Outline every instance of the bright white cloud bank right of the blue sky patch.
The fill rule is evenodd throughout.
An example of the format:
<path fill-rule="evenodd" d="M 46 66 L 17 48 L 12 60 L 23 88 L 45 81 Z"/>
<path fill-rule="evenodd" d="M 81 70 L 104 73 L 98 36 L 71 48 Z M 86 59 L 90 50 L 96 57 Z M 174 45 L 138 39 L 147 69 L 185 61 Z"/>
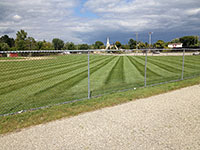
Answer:
<path fill-rule="evenodd" d="M 134 30 L 172 29 L 190 23 L 188 14 L 199 12 L 200 2 L 175 0 L 88 0 L 85 7 L 101 16 L 101 20 L 112 20 L 115 25 Z M 176 25 L 174 25 L 176 24 Z M 132 27 L 132 29 L 131 29 Z M 176 30 L 176 29 L 175 29 Z"/>

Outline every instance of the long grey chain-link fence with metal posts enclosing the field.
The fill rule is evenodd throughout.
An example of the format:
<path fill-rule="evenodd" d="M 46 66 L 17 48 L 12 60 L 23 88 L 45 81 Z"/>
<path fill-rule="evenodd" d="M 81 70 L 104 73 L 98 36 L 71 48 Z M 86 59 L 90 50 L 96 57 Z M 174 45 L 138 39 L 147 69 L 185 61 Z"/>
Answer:
<path fill-rule="evenodd" d="M 199 49 L 0 51 L 0 116 L 200 75 Z"/>

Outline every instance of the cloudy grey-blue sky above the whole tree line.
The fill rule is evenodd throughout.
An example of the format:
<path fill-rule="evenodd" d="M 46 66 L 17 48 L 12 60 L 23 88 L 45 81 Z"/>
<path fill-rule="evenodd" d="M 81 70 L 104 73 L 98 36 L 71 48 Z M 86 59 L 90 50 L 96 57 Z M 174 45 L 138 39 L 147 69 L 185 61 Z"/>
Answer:
<path fill-rule="evenodd" d="M 125 44 L 200 35 L 200 0 L 0 0 L 0 36 Z"/>

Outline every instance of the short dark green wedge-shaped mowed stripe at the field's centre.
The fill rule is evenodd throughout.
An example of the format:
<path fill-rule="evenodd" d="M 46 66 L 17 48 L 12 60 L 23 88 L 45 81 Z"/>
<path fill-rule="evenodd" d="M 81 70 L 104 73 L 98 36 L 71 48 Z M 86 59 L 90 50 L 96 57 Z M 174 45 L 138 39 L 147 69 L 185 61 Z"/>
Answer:
<path fill-rule="evenodd" d="M 106 78 L 105 85 L 125 82 L 124 57 L 120 56 Z"/>

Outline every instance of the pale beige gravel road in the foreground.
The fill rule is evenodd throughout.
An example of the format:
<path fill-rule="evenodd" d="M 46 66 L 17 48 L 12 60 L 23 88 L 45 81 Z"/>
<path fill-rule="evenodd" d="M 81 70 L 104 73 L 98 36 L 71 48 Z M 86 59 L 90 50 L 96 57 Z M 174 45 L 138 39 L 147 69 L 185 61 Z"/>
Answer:
<path fill-rule="evenodd" d="M 0 136 L 2 150 L 199 150 L 200 85 Z"/>

